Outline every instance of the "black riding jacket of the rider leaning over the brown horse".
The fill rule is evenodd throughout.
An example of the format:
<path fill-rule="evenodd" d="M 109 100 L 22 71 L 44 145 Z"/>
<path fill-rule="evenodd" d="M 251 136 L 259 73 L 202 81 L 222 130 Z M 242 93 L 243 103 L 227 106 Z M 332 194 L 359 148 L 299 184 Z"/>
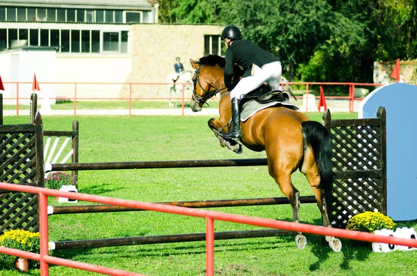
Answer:
<path fill-rule="evenodd" d="M 252 73 L 252 64 L 262 67 L 265 64 L 279 61 L 279 58 L 248 40 L 234 40 L 229 49 L 226 50 L 225 58 L 224 85 L 226 87 L 229 87 L 231 84 L 231 79 L 234 76 L 235 63 L 245 70 L 243 76 L 250 76 Z"/>

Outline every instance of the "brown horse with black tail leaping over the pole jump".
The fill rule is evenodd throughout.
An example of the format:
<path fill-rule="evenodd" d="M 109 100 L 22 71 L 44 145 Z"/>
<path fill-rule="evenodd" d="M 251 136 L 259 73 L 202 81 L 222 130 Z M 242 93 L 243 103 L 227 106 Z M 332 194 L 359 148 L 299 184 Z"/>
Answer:
<path fill-rule="evenodd" d="M 231 118 L 231 99 L 224 86 L 224 58 L 209 55 L 197 60 L 190 60 L 195 68 L 193 76 L 194 91 L 190 107 L 201 111 L 208 99 L 220 93 L 219 119 L 208 120 L 220 145 L 227 145 L 237 150 L 240 146 L 234 141 L 226 141 L 218 131 L 226 131 L 224 126 Z M 293 208 L 293 222 L 299 222 L 300 193 L 291 182 L 291 174 L 300 170 L 306 177 L 316 197 L 318 209 L 324 225 L 331 227 L 325 202 L 325 189 L 332 186 L 332 140 L 329 131 L 319 122 L 309 120 L 301 112 L 284 107 L 270 107 L 256 112 L 240 124 L 241 142 L 255 152 L 265 150 L 268 159 L 268 171 L 275 179 L 282 193 L 288 198 Z M 326 236 L 330 247 L 341 250 L 337 238 Z M 299 233 L 295 238 L 297 247 L 306 246 L 306 238 Z"/>

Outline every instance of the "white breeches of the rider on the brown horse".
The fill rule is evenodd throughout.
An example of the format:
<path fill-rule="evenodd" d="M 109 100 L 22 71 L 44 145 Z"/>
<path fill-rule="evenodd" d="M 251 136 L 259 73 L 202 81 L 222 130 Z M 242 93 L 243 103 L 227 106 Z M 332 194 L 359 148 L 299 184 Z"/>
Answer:
<path fill-rule="evenodd" d="M 268 86 L 272 90 L 279 90 L 281 74 L 282 68 L 279 61 L 265 64 L 261 68 L 254 65 L 254 74 L 242 78 L 236 87 L 231 90 L 230 97 L 238 97 L 238 99 L 240 99 L 242 95 L 252 92 L 265 82 L 268 83 Z"/>

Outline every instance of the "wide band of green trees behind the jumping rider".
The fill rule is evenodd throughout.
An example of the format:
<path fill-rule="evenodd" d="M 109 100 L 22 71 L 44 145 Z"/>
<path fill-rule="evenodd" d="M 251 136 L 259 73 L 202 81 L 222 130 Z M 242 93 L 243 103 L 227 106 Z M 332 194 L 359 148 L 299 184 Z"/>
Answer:
<path fill-rule="evenodd" d="M 288 81 L 372 83 L 375 60 L 417 58 L 414 0 L 160 3 L 163 22 L 242 27 L 245 38 L 281 58 Z"/>

